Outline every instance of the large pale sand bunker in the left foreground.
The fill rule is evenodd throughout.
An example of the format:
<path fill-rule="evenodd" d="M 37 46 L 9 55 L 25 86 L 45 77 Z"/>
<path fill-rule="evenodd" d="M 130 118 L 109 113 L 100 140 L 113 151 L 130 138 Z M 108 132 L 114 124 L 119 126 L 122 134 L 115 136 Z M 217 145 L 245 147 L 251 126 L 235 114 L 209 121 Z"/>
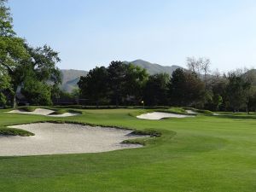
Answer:
<path fill-rule="evenodd" d="M 53 123 L 10 127 L 31 131 L 35 136 L 0 137 L 0 156 L 99 153 L 142 147 L 138 144 L 121 144 L 124 140 L 142 136 L 131 136 L 128 135 L 131 131 L 115 128 Z"/>

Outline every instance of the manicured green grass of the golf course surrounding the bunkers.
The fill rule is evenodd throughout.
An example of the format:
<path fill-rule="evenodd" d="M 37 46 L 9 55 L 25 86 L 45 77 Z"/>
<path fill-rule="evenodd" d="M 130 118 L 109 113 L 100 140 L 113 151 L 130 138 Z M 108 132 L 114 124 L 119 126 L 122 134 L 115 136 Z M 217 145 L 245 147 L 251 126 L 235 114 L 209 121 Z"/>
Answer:
<path fill-rule="evenodd" d="M 3 111 L 2 126 L 65 120 L 161 136 L 143 148 L 108 153 L 0 157 L 0 191 L 256 191 L 255 113 L 146 120 L 129 115 L 142 109 L 81 110 L 65 119 Z"/>

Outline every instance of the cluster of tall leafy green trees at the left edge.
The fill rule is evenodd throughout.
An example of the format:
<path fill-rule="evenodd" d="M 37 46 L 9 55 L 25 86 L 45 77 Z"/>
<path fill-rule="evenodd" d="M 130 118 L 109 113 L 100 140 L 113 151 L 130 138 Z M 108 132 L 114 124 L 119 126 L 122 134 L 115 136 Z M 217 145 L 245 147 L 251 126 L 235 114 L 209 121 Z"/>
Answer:
<path fill-rule="evenodd" d="M 33 48 L 16 35 L 6 0 L 0 0 L 0 106 L 15 108 L 20 89 L 34 105 L 50 105 L 59 93 L 58 53 L 49 46 Z"/>

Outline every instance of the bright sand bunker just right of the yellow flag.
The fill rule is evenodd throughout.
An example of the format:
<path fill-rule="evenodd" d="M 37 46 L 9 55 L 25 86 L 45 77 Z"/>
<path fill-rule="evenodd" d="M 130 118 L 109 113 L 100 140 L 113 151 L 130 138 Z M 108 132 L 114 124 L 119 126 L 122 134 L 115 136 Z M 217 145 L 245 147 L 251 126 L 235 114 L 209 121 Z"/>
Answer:
<path fill-rule="evenodd" d="M 176 113 L 163 113 L 163 112 L 144 113 L 137 116 L 138 119 L 152 119 L 152 120 L 158 120 L 163 118 L 187 118 L 187 117 L 194 117 L 194 116 L 185 115 L 185 114 L 176 114 Z"/>

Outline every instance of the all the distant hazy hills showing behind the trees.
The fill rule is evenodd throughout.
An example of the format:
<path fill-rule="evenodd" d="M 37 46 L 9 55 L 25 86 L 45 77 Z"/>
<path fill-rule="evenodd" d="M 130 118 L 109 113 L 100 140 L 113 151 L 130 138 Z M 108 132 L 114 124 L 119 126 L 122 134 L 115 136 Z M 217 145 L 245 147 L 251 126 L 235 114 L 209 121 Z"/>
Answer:
<path fill-rule="evenodd" d="M 132 63 L 135 66 L 139 66 L 145 68 L 149 74 L 156 73 L 168 73 L 172 75 L 172 72 L 177 68 L 182 68 L 179 66 L 161 66 L 159 64 L 151 63 L 143 60 L 135 60 L 135 61 L 124 61 L 124 63 Z M 86 75 L 88 72 L 83 70 L 74 70 L 74 69 L 62 69 L 62 84 L 61 90 L 65 90 L 67 92 L 71 92 L 74 88 L 77 88 L 77 83 L 79 82 L 80 76 Z"/>

